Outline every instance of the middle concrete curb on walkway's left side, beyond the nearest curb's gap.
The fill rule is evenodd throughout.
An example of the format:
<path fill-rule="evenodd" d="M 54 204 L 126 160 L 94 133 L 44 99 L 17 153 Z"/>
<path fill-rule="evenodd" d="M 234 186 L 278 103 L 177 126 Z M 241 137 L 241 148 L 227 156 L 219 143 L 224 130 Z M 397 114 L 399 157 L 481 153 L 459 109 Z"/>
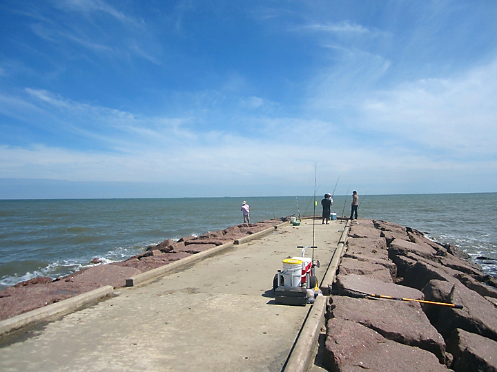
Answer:
<path fill-rule="evenodd" d="M 230 247 L 233 247 L 233 242 L 228 242 L 226 244 L 218 245 L 217 247 L 207 249 L 206 251 L 199 252 L 197 254 L 192 254 L 191 256 L 182 258 L 181 260 L 170 262 L 167 265 L 157 267 L 152 270 L 144 271 L 143 273 L 139 273 L 135 276 L 127 278 L 126 287 L 134 287 L 136 285 L 141 285 L 144 284 L 145 282 L 149 282 L 150 280 L 160 278 L 161 276 L 166 275 L 166 273 L 169 273 L 170 271 L 181 269 L 186 265 L 190 265 L 193 262 L 212 256 L 213 254 L 217 254 L 221 251 L 224 251 L 224 249 L 228 249 Z"/>

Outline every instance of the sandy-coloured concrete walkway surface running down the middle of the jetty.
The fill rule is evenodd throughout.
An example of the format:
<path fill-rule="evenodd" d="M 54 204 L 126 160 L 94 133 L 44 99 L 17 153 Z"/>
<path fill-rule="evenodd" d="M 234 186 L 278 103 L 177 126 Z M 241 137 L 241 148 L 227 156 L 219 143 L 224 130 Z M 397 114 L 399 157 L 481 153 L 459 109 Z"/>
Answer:
<path fill-rule="evenodd" d="M 316 222 L 320 281 L 344 223 Z M 281 371 L 311 305 L 275 304 L 273 276 L 312 236 L 312 220 L 303 220 L 118 289 L 114 298 L 4 340 L 0 371 Z"/>

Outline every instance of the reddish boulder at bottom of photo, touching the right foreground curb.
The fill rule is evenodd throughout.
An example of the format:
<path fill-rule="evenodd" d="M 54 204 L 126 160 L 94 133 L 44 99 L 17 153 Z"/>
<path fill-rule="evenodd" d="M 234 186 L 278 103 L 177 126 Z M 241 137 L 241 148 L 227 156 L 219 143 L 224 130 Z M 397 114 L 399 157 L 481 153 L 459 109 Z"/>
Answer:
<path fill-rule="evenodd" d="M 433 353 L 387 340 L 350 320 L 327 322 L 324 363 L 329 371 L 447 371 Z"/>

